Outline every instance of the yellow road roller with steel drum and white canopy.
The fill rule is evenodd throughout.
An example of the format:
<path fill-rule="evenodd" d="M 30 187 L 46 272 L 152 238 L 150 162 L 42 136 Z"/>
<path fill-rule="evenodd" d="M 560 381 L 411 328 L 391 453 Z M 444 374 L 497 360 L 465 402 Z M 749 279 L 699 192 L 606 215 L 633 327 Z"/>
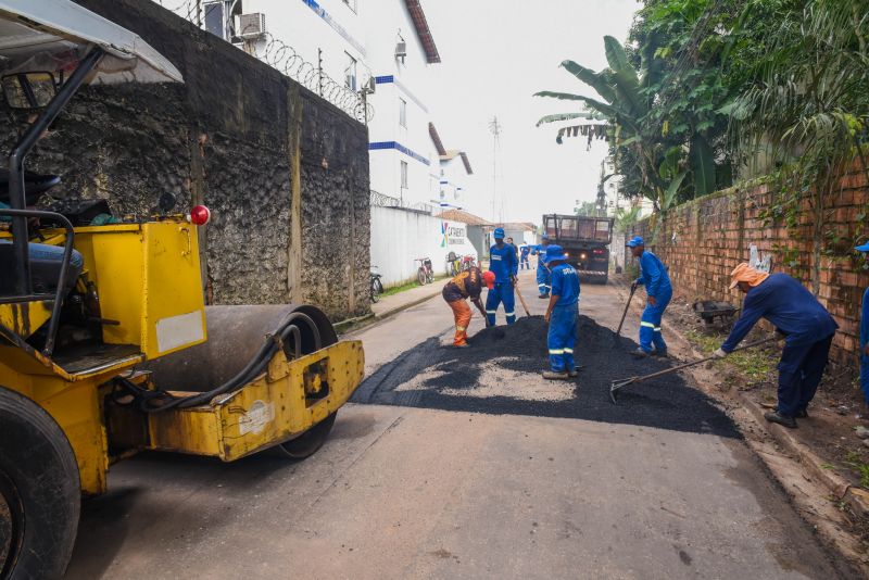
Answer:
<path fill-rule="evenodd" d="M 62 176 L 25 160 L 81 86 L 182 81 L 70 0 L 0 0 L 0 84 L 25 127 L 0 173 L 0 578 L 64 573 L 81 497 L 105 491 L 115 462 L 304 458 L 362 381 L 361 343 L 312 305 L 205 306 L 206 207 L 165 192 L 158 215 L 46 205 Z"/>

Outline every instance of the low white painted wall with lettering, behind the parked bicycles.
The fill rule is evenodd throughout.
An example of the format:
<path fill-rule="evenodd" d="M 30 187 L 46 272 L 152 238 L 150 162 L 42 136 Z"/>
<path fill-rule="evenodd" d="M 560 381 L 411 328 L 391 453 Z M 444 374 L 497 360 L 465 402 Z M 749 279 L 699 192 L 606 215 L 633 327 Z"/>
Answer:
<path fill-rule="evenodd" d="M 419 267 L 416 257 L 431 259 L 434 274 L 446 274 L 450 251 L 477 259 L 466 232 L 467 226 L 459 222 L 394 207 L 371 207 L 371 265 L 377 266 L 386 287 L 415 280 Z"/>

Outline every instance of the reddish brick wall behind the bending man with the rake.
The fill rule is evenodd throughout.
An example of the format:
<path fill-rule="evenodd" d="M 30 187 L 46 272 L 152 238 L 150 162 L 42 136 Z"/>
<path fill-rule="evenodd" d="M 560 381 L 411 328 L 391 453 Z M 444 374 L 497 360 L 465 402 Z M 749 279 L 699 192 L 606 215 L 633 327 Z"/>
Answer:
<path fill-rule="evenodd" d="M 869 272 L 851 248 L 867 235 L 869 188 L 859 164 L 836 181 L 833 193 L 793 205 L 767 185 L 728 189 L 671 210 L 659 223 L 645 219 L 633 234 L 650 240 L 646 248 L 664 260 L 676 294 L 689 301 L 741 304 L 739 290 L 728 289 L 730 272 L 755 245 L 760 257 L 771 256 L 772 272 L 794 276 L 818 295 L 840 326 L 831 360 L 855 365 Z"/>

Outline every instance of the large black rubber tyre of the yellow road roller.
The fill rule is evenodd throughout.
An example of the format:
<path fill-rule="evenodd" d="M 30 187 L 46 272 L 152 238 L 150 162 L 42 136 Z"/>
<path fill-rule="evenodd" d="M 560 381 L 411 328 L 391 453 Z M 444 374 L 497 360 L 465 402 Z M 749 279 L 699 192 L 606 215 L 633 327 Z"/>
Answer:
<path fill-rule="evenodd" d="M 78 464 L 63 430 L 0 387 L 0 578 L 61 578 L 80 504 Z"/>

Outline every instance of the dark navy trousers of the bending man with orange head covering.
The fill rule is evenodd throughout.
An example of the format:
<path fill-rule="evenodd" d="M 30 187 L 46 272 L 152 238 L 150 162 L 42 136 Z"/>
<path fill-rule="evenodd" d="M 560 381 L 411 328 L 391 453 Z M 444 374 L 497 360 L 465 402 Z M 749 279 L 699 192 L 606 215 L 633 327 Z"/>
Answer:
<path fill-rule="evenodd" d="M 809 344 L 784 344 L 779 361 L 779 413 L 806 411 L 821 382 L 833 335 Z"/>

